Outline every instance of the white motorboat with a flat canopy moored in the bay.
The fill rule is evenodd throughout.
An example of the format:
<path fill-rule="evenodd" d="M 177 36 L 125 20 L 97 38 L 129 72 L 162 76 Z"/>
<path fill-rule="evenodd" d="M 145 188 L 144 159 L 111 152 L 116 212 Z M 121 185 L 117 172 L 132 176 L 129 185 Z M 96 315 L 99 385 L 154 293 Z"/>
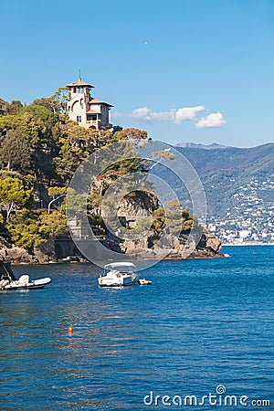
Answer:
<path fill-rule="evenodd" d="M 100 287 L 121 287 L 134 285 L 138 279 L 136 267 L 131 262 L 115 262 L 104 266 L 104 273 L 100 275 Z"/>

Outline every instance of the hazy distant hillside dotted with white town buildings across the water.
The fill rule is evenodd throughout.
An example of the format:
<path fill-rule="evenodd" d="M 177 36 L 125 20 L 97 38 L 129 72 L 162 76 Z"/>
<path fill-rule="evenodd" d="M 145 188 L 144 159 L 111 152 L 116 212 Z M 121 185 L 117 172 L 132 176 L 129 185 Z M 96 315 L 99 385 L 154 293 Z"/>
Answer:
<path fill-rule="evenodd" d="M 218 237 L 225 242 L 274 240 L 274 143 L 247 149 L 176 149 L 204 184 L 207 221 Z"/>

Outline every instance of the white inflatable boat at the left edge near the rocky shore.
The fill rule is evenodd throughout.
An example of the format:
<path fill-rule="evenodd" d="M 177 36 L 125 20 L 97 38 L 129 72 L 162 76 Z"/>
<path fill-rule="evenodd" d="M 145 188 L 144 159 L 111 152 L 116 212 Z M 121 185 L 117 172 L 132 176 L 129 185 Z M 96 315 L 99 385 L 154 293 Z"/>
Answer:
<path fill-rule="evenodd" d="M 0 290 L 37 290 L 43 289 L 50 282 L 49 277 L 29 279 L 26 274 L 16 279 L 10 263 L 4 263 L 0 260 Z"/>

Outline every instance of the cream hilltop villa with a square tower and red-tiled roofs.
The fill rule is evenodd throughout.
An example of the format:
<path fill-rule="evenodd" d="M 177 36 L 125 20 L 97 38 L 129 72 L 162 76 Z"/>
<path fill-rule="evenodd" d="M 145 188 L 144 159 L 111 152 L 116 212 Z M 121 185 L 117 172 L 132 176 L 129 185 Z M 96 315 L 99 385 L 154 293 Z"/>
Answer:
<path fill-rule="evenodd" d="M 111 104 L 94 99 L 91 96 L 91 84 L 82 81 L 79 77 L 77 81 L 67 84 L 70 90 L 70 100 L 68 101 L 69 120 L 77 121 L 80 126 L 93 130 L 108 130 L 112 124 L 109 122 L 109 111 Z"/>

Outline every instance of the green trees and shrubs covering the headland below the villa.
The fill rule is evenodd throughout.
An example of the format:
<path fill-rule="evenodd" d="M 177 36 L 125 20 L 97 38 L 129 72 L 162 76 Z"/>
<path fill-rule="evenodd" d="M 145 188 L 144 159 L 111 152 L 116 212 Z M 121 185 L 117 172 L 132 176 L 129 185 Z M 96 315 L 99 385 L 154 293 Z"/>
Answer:
<path fill-rule="evenodd" d="M 68 184 L 79 164 L 91 153 L 111 142 L 142 140 L 149 143 L 147 132 L 114 126 L 110 131 L 94 131 L 80 127 L 66 116 L 67 90 L 60 89 L 49 98 L 34 100 L 28 106 L 20 101 L 0 100 L 0 236 L 9 244 L 30 252 L 47 242 L 50 237 L 68 235 L 65 202 Z M 174 154 L 153 153 L 154 163 Z M 91 227 L 98 234 L 106 234 L 101 210 L 105 191 L 121 175 L 142 171 L 149 173 L 150 161 L 134 159 L 112 164 L 101 173 L 90 188 L 88 216 Z M 131 193 L 131 201 L 138 202 L 140 193 Z M 161 236 L 166 218 L 183 232 L 198 227 L 188 209 L 171 199 L 170 216 L 156 198 L 145 198 L 153 216 L 151 236 Z M 79 206 L 79 205 L 78 205 Z M 121 220 L 121 224 L 122 220 Z M 139 219 L 134 230 L 142 233 L 147 224 Z M 127 222 L 125 226 L 129 228 Z"/>

